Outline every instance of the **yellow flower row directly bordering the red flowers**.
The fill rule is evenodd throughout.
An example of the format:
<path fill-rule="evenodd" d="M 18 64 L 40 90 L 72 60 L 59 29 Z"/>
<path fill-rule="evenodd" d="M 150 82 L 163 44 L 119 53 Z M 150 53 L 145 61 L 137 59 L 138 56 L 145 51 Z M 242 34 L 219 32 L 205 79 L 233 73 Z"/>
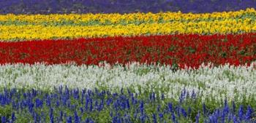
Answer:
<path fill-rule="evenodd" d="M 102 36 L 137 36 L 146 34 L 173 33 L 249 33 L 256 31 L 256 24 L 244 21 L 212 21 L 199 23 L 143 23 L 141 25 L 104 26 L 44 26 L 44 25 L 1 25 L 1 41 L 32 39 L 73 39 Z"/>

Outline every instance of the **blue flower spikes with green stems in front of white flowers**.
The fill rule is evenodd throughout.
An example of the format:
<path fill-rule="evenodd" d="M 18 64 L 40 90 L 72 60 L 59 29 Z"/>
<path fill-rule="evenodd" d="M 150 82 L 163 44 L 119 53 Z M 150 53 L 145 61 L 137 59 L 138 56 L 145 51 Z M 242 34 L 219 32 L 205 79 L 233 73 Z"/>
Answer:
<path fill-rule="evenodd" d="M 0 116 L 1 122 L 256 122 L 254 104 L 243 106 L 225 100 L 216 106 L 202 103 L 196 95 L 182 90 L 176 101 L 164 94 L 142 95 L 128 89 L 4 89 L 0 92 Z"/>

